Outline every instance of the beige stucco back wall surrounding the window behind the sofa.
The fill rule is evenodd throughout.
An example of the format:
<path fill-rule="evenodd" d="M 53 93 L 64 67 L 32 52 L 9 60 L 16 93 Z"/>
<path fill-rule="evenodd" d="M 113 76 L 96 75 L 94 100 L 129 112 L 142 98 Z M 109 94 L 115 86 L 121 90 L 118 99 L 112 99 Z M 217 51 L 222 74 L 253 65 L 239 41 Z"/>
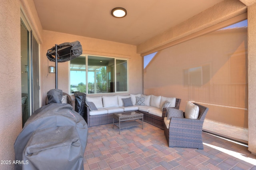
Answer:
<path fill-rule="evenodd" d="M 136 46 L 44 30 L 40 53 L 42 105 L 47 91 L 55 88 L 55 74 L 48 74 L 48 65 L 55 66 L 55 63 L 48 61 L 46 52 L 55 44 L 74 41 L 81 43 L 84 54 L 128 58 L 129 93 L 142 93 L 142 58 L 136 53 Z M 68 93 L 69 87 L 69 62 L 58 63 L 58 89 Z"/>

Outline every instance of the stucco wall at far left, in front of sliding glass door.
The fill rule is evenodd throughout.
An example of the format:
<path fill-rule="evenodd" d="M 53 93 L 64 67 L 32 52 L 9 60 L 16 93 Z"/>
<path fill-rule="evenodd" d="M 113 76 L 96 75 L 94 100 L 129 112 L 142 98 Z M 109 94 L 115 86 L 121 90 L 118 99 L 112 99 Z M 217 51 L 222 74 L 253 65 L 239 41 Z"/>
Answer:
<path fill-rule="evenodd" d="M 20 0 L 1 0 L 0 20 L 0 160 L 13 161 L 13 144 L 22 129 Z M 1 170 L 13 167 L 0 164 Z"/>

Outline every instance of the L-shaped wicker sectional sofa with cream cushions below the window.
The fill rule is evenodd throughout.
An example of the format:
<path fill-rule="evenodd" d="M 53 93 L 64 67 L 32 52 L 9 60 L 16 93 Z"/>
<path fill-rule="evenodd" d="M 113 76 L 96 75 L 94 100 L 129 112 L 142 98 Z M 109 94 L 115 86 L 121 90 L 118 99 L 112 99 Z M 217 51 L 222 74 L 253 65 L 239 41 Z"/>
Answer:
<path fill-rule="evenodd" d="M 127 105 L 126 101 L 129 101 L 130 105 Z M 88 127 L 92 127 L 113 123 L 112 115 L 114 113 L 138 111 L 144 114 L 145 122 L 164 129 L 165 115 L 161 107 L 168 104 L 168 107 L 179 109 L 180 101 L 181 99 L 175 97 L 142 94 L 86 96 L 84 119 Z M 92 103 L 93 107 L 91 106 Z"/>

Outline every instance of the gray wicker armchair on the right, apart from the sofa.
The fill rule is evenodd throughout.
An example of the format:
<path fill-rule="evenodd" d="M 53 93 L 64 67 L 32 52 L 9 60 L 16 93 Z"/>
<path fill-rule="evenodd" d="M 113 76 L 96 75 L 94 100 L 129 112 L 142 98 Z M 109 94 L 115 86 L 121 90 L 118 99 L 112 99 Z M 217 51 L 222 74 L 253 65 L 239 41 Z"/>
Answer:
<path fill-rule="evenodd" d="M 202 127 L 208 108 L 197 103 L 194 104 L 199 107 L 198 119 L 172 117 L 170 119 L 169 128 L 164 125 L 164 136 L 170 148 L 184 147 L 204 149 Z M 166 112 L 166 108 L 164 108 L 163 114 L 167 116 Z"/>

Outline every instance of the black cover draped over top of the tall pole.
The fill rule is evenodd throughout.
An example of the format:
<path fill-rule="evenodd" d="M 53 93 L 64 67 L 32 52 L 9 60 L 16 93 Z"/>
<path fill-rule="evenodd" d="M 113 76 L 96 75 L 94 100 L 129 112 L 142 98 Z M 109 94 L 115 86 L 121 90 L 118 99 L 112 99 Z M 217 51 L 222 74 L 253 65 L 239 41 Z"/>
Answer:
<path fill-rule="evenodd" d="M 79 41 L 75 42 L 65 42 L 58 45 L 58 62 L 66 62 L 70 61 L 76 57 L 79 57 L 82 54 L 82 45 Z M 54 57 L 54 56 L 55 57 Z M 56 51 L 55 46 L 51 49 L 48 49 L 46 56 L 50 61 L 55 61 L 56 59 Z"/>

